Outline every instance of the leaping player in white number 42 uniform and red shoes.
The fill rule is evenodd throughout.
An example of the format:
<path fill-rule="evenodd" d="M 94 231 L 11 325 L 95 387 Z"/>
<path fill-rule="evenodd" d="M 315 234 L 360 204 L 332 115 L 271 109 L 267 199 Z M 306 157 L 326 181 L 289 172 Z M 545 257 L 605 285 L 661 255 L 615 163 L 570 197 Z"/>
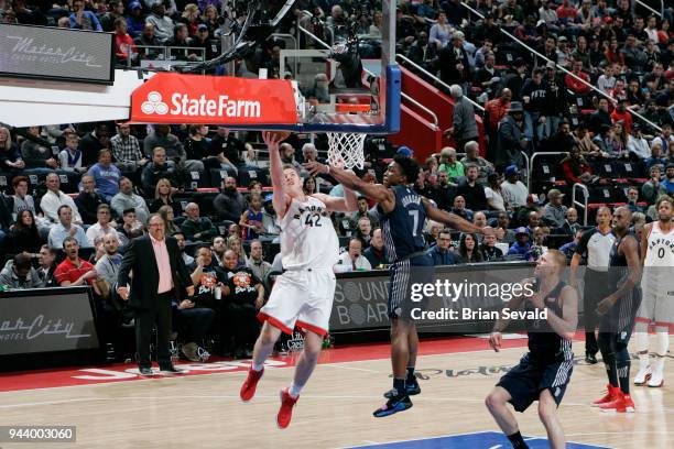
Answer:
<path fill-rule="evenodd" d="M 297 171 L 281 162 L 279 143 L 284 135 L 264 132 L 263 138 L 269 147 L 274 188 L 272 202 L 281 227 L 284 273 L 276 277 L 269 302 L 260 310 L 259 318 L 264 324 L 240 395 L 248 402 L 256 394 L 258 381 L 264 372 L 264 361 L 281 332 L 292 335 L 295 326 L 303 329 L 304 350 L 297 360 L 293 383 L 281 391 L 281 408 L 276 415 L 276 424 L 285 428 L 300 392 L 318 360 L 333 309 L 336 285 L 333 265 L 339 255 L 339 241 L 328 212 L 355 211 L 358 205 L 356 196 L 347 188 L 344 198 L 305 195 Z"/>

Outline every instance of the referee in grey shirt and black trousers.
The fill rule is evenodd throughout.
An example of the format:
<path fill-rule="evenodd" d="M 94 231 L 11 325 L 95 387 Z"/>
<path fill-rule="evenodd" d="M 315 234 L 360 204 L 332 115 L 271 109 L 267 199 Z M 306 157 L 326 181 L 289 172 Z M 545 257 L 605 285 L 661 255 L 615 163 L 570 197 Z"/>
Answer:
<path fill-rule="evenodd" d="M 580 242 L 570 263 L 570 285 L 578 288 L 578 265 L 587 255 L 587 270 L 585 271 L 583 291 L 583 316 L 585 320 L 585 361 L 597 363 L 599 344 L 595 336 L 597 327 L 597 300 L 607 297 L 609 291 L 608 266 L 609 254 L 616 236 L 611 230 L 611 209 L 601 207 L 597 211 L 597 226 L 583 233 Z"/>

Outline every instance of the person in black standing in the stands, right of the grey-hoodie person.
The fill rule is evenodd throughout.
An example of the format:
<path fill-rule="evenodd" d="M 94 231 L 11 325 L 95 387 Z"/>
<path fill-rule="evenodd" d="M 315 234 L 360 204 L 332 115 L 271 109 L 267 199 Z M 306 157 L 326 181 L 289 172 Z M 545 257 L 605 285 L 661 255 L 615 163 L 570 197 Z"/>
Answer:
<path fill-rule="evenodd" d="M 508 108 L 508 116 L 499 124 L 497 168 L 515 165 L 524 166 L 522 151 L 529 149 L 529 139 L 524 133 L 524 109 L 520 101 L 513 101 Z"/>

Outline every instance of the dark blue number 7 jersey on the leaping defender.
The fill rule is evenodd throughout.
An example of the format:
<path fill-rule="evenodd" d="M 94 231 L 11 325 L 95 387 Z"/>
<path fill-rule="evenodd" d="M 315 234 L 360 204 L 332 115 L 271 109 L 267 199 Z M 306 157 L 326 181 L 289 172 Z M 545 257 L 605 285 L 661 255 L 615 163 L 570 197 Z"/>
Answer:
<path fill-rule="evenodd" d="M 395 194 L 395 208 L 384 213 L 381 208 L 381 231 L 391 262 L 399 261 L 410 254 L 424 251 L 424 222 L 426 208 L 422 197 L 406 186 L 391 187 Z"/>

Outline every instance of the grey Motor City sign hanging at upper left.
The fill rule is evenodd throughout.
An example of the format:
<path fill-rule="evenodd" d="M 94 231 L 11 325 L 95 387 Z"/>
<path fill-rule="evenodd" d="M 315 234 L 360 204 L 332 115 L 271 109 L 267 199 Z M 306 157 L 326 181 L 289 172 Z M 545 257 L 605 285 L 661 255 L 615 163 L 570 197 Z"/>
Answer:
<path fill-rule="evenodd" d="M 0 24 L 0 75 L 115 83 L 112 33 Z"/>

